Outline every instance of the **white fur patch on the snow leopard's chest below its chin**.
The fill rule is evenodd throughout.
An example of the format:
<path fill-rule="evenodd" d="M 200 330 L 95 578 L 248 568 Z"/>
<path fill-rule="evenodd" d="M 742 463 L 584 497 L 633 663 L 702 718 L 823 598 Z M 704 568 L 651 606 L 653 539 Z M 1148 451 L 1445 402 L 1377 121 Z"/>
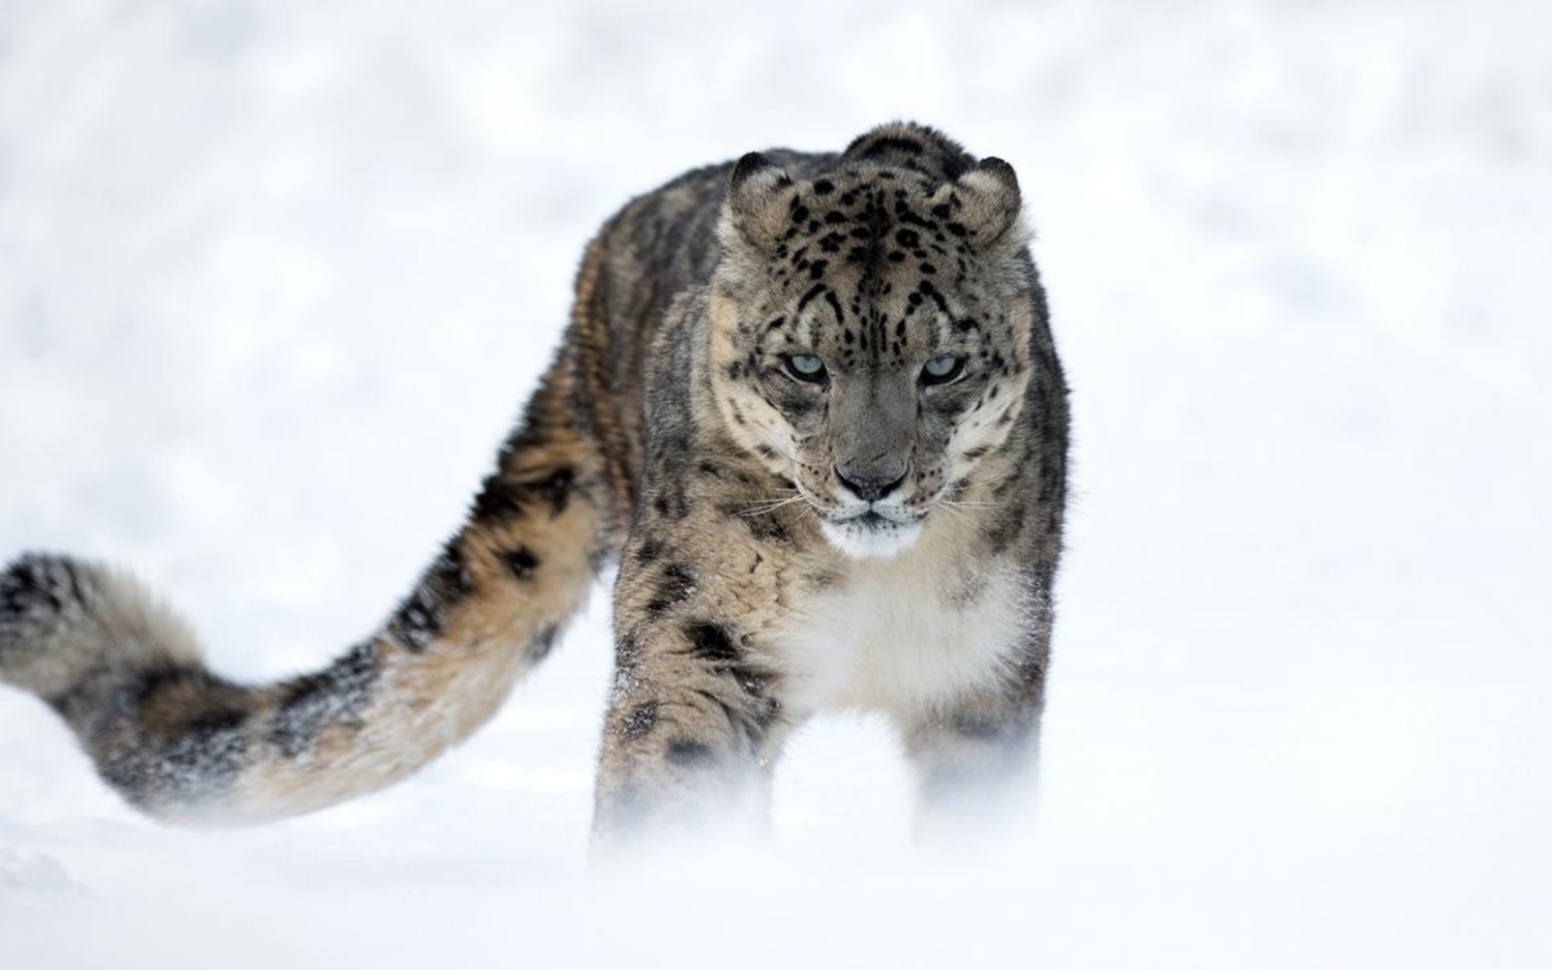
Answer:
<path fill-rule="evenodd" d="M 911 714 L 1009 674 L 1026 643 L 1027 584 L 1015 570 L 965 566 L 923 545 L 854 562 L 843 584 L 776 632 L 790 703 Z"/>

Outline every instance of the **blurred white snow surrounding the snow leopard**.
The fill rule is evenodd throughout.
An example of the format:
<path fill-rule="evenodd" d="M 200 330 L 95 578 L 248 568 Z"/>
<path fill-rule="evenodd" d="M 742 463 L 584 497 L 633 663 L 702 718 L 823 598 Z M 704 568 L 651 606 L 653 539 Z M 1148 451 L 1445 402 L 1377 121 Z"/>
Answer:
<path fill-rule="evenodd" d="M 0 965 L 1552 962 L 1544 5 L 0 0 L 0 559 L 244 678 L 455 526 L 590 233 L 914 118 L 1010 160 L 1074 386 L 1043 801 L 911 849 L 868 720 L 773 847 L 587 866 L 607 596 L 480 736 L 242 833 L 0 689 Z"/>

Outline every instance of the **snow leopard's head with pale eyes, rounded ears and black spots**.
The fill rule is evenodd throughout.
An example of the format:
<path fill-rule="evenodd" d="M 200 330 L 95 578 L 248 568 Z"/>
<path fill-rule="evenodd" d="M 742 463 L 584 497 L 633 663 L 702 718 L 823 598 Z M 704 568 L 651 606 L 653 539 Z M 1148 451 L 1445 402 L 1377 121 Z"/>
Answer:
<path fill-rule="evenodd" d="M 717 407 L 840 549 L 908 546 L 1015 427 L 1032 287 L 1018 211 L 995 158 L 947 185 L 739 163 L 711 296 Z"/>

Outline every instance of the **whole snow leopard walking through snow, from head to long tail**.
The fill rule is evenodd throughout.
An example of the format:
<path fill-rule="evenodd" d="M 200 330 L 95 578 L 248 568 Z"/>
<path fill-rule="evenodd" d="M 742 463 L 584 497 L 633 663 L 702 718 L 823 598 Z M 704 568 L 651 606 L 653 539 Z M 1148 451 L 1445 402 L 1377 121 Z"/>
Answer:
<path fill-rule="evenodd" d="M 882 714 L 923 819 L 1038 760 L 1068 390 L 1018 178 L 936 129 L 694 169 L 607 220 L 466 520 L 320 670 L 237 683 L 133 576 L 0 573 L 0 681 L 146 815 L 242 826 L 458 743 L 615 574 L 593 838 L 760 816 L 784 743 Z"/>

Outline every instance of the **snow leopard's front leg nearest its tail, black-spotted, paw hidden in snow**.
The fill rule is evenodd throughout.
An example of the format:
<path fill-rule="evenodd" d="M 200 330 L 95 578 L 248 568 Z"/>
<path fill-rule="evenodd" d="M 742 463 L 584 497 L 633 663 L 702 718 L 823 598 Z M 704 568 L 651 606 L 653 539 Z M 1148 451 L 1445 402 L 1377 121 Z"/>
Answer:
<path fill-rule="evenodd" d="M 636 543 L 616 590 L 594 843 L 764 827 L 768 768 L 785 733 L 779 683 L 722 605 L 715 577 L 680 559 L 633 568 L 639 559 Z"/>

